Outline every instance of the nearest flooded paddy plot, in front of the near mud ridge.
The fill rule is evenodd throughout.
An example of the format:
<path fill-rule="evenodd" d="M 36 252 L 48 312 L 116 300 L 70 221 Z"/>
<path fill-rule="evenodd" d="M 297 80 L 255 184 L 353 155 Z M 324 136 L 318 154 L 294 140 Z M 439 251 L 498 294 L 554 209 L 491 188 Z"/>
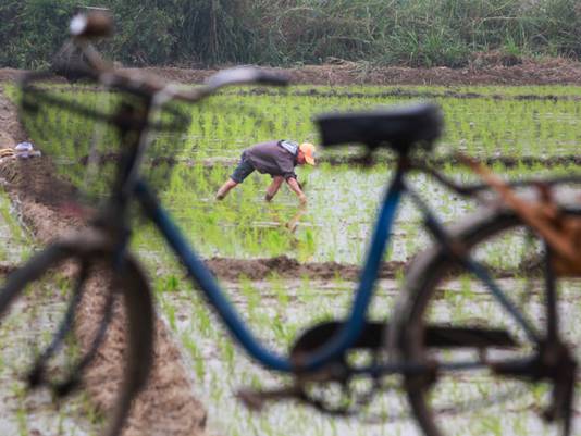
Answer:
<path fill-rule="evenodd" d="M 503 279 L 507 289 L 527 289 L 519 279 Z M 330 317 L 342 317 L 351 301 L 354 284 L 347 282 L 264 281 L 226 283 L 226 291 L 242 309 L 245 320 L 269 347 L 281 352 L 307 325 Z M 526 312 L 536 323 L 544 314 L 539 289 L 527 301 Z M 561 289 L 565 337 L 579 342 L 581 329 L 576 320 L 581 315 L 581 283 L 570 283 Z M 449 322 L 475 323 L 485 320 L 491 325 L 507 325 L 507 315 L 490 295 L 479 286 L 467 291 L 463 281 L 448 283 L 445 298 L 434 303 L 434 316 Z M 382 281 L 372 308 L 372 317 L 385 320 L 398 295 L 395 281 Z M 520 297 L 519 297 L 520 298 Z M 239 388 L 274 388 L 288 383 L 287 377 L 262 370 L 237 347 L 202 302 L 189 291 L 159 294 L 160 306 L 190 369 L 197 394 L 209 409 L 209 429 L 217 434 L 247 435 L 413 435 L 420 434 L 410 419 L 405 396 L 399 389 L 380 396 L 370 406 L 369 420 L 380 415 L 382 424 L 363 423 L 356 419 L 333 419 L 293 401 L 274 403 L 260 413 L 249 412 L 235 398 Z M 519 300 L 520 301 L 520 300 Z M 517 337 L 519 333 L 516 333 Z M 578 354 L 579 356 L 579 354 Z M 543 385 L 530 391 L 527 385 L 505 383 L 481 373 L 455 373 L 437 385 L 438 406 L 444 427 L 449 435 L 553 435 L 536 413 L 539 398 L 547 399 Z M 397 377 L 388 379 L 398 384 Z M 500 398 L 502 397 L 502 398 Z M 506 397 L 506 398 L 505 398 Z M 459 404 L 457 404 L 459 401 Z M 483 401 L 483 402 L 477 402 Z M 449 404 L 448 404 L 449 403 Z M 483 407 L 482 404 L 486 404 Z M 474 408 L 474 404 L 480 404 Z M 466 412 L 466 408 L 470 413 Z M 579 414 L 577 414 L 579 415 Z M 579 421 L 579 422 L 577 422 Z M 576 416 L 577 428 L 581 419 Z"/>

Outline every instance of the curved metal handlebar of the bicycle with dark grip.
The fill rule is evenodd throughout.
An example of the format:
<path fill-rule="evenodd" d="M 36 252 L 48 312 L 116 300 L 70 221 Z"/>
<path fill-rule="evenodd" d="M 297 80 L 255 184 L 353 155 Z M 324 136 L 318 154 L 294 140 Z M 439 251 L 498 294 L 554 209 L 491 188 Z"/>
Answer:
<path fill-rule="evenodd" d="M 280 74 L 252 66 L 239 66 L 222 70 L 213 74 L 202 87 L 184 90 L 181 89 L 183 88 L 181 85 L 168 83 L 151 74 L 120 71 L 101 58 L 90 42 L 113 34 L 113 21 L 110 13 L 99 11 L 86 15 L 76 15 L 71 21 L 70 30 L 73 43 L 81 49 L 90 66 L 90 70 L 84 68 L 83 75 L 90 76 L 110 88 L 121 89 L 131 94 L 151 97 L 163 95 L 166 100 L 182 100 L 194 103 L 215 92 L 219 88 L 231 85 L 288 85 L 288 79 Z"/>

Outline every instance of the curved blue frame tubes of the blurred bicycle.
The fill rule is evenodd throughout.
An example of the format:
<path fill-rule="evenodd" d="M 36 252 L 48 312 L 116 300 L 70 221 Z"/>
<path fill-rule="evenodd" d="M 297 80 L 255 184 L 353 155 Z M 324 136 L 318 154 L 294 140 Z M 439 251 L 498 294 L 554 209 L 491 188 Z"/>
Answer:
<path fill-rule="evenodd" d="M 404 183 L 405 170 L 398 165 L 395 175 L 390 183 L 382 201 L 378 220 L 371 239 L 371 246 L 367 253 L 367 259 L 361 271 L 359 286 L 355 292 L 351 312 L 339 331 L 325 342 L 320 349 L 310 353 L 300 362 L 293 362 L 287 357 L 277 354 L 267 349 L 250 332 L 234 307 L 231 304 L 224 292 L 221 290 L 213 274 L 203 264 L 200 258 L 189 247 L 182 236 L 180 228 L 171 220 L 169 213 L 161 208 L 160 203 L 149 190 L 147 185 L 139 180 L 135 185 L 135 195 L 141 204 L 146 215 L 156 224 L 170 247 L 180 258 L 191 277 L 197 282 L 210 304 L 217 310 L 220 317 L 227 326 L 232 336 L 246 349 L 246 351 L 258 362 L 268 369 L 280 372 L 310 372 L 317 371 L 331 360 L 347 350 L 359 337 L 367 321 L 368 308 L 373 297 L 374 284 L 381 266 L 383 254 L 390 241 L 390 233 L 395 220 L 397 207 L 401 196 L 406 192 L 419 204 L 424 215 L 428 227 L 436 236 L 437 240 L 445 247 L 449 245 L 443 226 L 435 220 L 434 214 L 421 203 L 419 199 L 409 191 Z M 450 250 L 450 253 L 454 254 Z M 532 324 L 522 315 L 518 308 L 512 304 L 503 290 L 490 276 L 487 270 L 470 257 L 458 259 L 468 271 L 473 273 L 491 290 L 492 295 L 500 306 L 510 313 L 516 322 L 521 325 L 524 332 L 533 340 L 537 340 L 536 332 Z M 401 371 L 400 365 L 395 365 L 391 371 Z M 387 369 L 385 369 L 387 370 Z"/>

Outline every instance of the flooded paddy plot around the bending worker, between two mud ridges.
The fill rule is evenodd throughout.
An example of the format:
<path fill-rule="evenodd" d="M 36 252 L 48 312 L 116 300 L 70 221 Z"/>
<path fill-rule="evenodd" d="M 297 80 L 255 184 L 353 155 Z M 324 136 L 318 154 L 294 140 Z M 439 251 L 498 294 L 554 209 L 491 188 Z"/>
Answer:
<path fill-rule="evenodd" d="M 251 259 L 285 254 L 300 262 L 360 264 L 371 237 L 378 204 L 393 175 L 392 167 L 375 165 L 361 170 L 323 164 L 314 170 L 298 171 L 299 177 L 306 182 L 309 198 L 305 210 L 298 205 L 296 196 L 284 187 L 272 203 L 264 202 L 263 192 L 270 182 L 258 174 L 252 174 L 224 201 L 218 202 L 213 197 L 219 185 L 198 186 L 196 177 L 185 169 L 176 169 L 174 176 L 180 176 L 181 184 L 190 188 L 170 189 L 162 200 L 203 257 Z M 566 175 L 573 171 L 574 165 L 561 165 L 510 169 L 504 170 L 503 174 L 527 178 L 542 174 Z M 461 169 L 450 166 L 446 174 L 459 183 L 479 182 Z M 422 174 L 410 176 L 409 182 L 444 223 L 466 216 L 479 204 L 450 192 Z M 296 228 L 290 231 L 288 224 L 294 219 L 297 219 L 294 221 Z M 393 228 L 390 260 L 406 261 L 430 245 L 431 239 L 420 224 L 418 210 L 409 200 L 404 200 Z M 163 245 L 150 231 L 138 234 L 135 242 L 138 249 L 148 251 Z"/>

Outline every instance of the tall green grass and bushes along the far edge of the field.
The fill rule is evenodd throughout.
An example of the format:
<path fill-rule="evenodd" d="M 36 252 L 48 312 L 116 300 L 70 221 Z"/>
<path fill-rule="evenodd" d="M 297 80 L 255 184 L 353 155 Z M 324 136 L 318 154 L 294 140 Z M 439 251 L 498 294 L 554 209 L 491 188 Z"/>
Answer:
<path fill-rule="evenodd" d="M 116 21 L 108 54 L 132 66 L 462 66 L 478 52 L 581 57 L 578 0 L 3 0 L 0 65 L 36 68 L 79 5 Z"/>

